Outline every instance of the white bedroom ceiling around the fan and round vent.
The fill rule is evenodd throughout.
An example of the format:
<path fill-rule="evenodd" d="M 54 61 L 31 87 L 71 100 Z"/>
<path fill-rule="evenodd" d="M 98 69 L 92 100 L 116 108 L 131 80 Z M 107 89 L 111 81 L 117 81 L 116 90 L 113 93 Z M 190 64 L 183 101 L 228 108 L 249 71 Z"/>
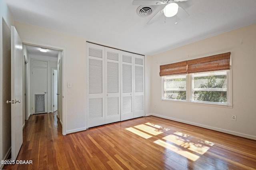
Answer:
<path fill-rule="evenodd" d="M 85 38 L 87 41 L 144 55 L 154 55 L 223 32 L 256 23 L 256 0 L 188 0 L 178 2 L 190 14 L 183 20 L 163 8 L 138 16 L 132 0 L 5 0 L 14 19 Z"/>

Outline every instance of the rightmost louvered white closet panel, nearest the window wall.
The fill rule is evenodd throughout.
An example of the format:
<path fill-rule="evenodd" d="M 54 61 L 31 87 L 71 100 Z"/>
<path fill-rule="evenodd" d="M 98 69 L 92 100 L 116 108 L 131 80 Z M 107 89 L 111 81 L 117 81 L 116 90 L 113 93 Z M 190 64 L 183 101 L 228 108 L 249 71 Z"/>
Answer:
<path fill-rule="evenodd" d="M 144 56 L 134 54 L 134 118 L 145 115 Z"/>

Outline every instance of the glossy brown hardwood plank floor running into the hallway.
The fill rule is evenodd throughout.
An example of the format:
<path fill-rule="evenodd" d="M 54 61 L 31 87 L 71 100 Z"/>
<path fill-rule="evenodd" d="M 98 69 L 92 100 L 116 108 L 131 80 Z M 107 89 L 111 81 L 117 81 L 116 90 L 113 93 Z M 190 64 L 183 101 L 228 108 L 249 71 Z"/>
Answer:
<path fill-rule="evenodd" d="M 158 117 L 62 136 L 56 114 L 32 115 L 17 160 L 4 169 L 256 169 L 256 141 Z"/>

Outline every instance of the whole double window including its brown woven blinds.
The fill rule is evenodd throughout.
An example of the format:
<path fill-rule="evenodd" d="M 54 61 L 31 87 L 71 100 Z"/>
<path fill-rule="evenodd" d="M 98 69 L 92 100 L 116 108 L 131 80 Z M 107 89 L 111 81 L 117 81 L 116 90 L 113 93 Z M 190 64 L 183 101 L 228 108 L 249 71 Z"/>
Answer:
<path fill-rule="evenodd" d="M 164 100 L 231 105 L 230 52 L 161 65 L 160 76 Z"/>

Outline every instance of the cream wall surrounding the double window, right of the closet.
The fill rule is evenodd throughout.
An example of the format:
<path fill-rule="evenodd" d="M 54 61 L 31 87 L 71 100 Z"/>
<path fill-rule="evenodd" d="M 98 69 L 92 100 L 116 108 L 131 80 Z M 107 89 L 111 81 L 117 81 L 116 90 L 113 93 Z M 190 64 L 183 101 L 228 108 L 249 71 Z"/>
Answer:
<path fill-rule="evenodd" d="M 256 139 L 255 30 L 253 24 L 152 56 L 152 115 Z M 232 57 L 232 108 L 161 100 L 160 65 L 228 51 Z M 237 115 L 237 121 L 231 115 Z"/>

